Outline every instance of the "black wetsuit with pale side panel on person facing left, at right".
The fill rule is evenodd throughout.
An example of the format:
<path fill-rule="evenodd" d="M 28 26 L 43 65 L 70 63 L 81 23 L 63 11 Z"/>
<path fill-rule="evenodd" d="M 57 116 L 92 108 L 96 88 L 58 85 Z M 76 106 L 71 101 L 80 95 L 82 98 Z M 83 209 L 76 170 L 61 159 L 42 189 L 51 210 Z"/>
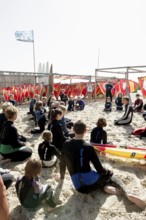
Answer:
<path fill-rule="evenodd" d="M 115 120 L 115 125 L 128 125 L 132 122 L 133 108 L 131 105 L 125 105 L 125 113 L 122 118 Z"/>

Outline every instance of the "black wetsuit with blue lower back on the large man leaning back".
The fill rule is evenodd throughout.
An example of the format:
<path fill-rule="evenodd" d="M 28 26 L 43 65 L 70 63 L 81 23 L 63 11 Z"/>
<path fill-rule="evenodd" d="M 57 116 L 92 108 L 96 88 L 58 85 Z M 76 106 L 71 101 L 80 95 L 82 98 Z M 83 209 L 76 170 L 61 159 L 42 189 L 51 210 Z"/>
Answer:
<path fill-rule="evenodd" d="M 96 171 L 93 171 L 90 162 Z M 89 193 L 107 183 L 107 171 L 102 167 L 94 148 L 84 140 L 67 140 L 62 149 L 62 166 L 67 166 L 74 187 L 81 193 Z"/>

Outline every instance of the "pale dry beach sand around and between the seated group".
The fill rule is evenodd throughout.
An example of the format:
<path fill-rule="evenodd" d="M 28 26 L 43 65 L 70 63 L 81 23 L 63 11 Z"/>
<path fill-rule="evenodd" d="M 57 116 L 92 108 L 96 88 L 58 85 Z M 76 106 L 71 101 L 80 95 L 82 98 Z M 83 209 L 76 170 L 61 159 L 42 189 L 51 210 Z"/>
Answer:
<path fill-rule="evenodd" d="M 29 130 L 34 127 L 33 121 L 28 121 L 26 112 L 28 105 L 22 105 L 19 108 L 19 116 L 16 126 L 20 134 L 28 137 L 27 146 L 33 148 L 33 156 L 38 157 L 37 147 L 42 141 L 41 135 L 32 135 Z M 111 113 L 103 112 L 104 101 L 86 105 L 84 111 L 71 112 L 66 117 L 76 121 L 83 119 L 87 124 L 88 132 L 85 140 L 89 142 L 90 131 L 95 127 L 95 123 L 99 117 L 107 119 L 107 127 L 105 130 L 108 134 L 108 141 L 120 145 L 146 146 L 146 138 L 140 140 L 137 137 L 129 137 L 131 131 L 138 127 L 145 126 L 142 115 L 134 113 L 133 122 L 130 126 L 114 126 L 113 121 L 122 116 L 123 112 L 116 112 L 115 106 Z M 131 192 L 139 195 L 146 202 L 146 161 L 136 159 L 125 159 L 107 155 L 101 158 L 106 168 L 112 169 L 114 174 L 121 179 Z M 15 177 L 24 173 L 23 163 L 7 163 L 3 168 L 11 169 Z M 77 193 L 71 183 L 68 173 L 65 180 L 61 184 L 54 179 L 58 173 L 58 167 L 51 169 L 42 169 L 42 183 L 50 183 L 55 192 L 55 200 L 60 207 L 55 210 L 48 210 L 48 207 L 40 207 L 36 212 L 29 212 L 20 209 L 20 203 L 15 192 L 15 182 L 8 189 L 8 201 L 10 206 L 11 220 L 42 220 L 42 219 L 60 219 L 60 220 L 145 220 L 146 210 L 140 210 L 132 202 L 128 201 L 124 196 L 108 195 L 102 191 L 97 191 L 92 195 L 81 195 Z"/>

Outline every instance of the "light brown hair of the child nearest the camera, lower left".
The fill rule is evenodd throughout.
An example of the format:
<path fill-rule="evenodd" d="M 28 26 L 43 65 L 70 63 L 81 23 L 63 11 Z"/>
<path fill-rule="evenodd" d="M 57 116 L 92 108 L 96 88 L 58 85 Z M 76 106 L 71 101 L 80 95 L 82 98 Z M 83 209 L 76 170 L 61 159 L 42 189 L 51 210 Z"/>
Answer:
<path fill-rule="evenodd" d="M 25 176 L 28 179 L 33 179 L 41 173 L 42 164 L 38 159 L 29 159 L 25 166 Z"/>

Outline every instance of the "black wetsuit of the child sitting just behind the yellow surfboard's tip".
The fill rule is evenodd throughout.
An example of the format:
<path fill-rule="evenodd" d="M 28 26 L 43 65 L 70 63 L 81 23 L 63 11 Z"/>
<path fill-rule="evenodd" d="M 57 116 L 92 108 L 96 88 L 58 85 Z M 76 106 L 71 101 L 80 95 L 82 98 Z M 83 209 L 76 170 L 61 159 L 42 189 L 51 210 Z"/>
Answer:
<path fill-rule="evenodd" d="M 95 127 L 91 131 L 90 142 L 97 144 L 107 144 L 107 133 L 103 128 Z"/>

